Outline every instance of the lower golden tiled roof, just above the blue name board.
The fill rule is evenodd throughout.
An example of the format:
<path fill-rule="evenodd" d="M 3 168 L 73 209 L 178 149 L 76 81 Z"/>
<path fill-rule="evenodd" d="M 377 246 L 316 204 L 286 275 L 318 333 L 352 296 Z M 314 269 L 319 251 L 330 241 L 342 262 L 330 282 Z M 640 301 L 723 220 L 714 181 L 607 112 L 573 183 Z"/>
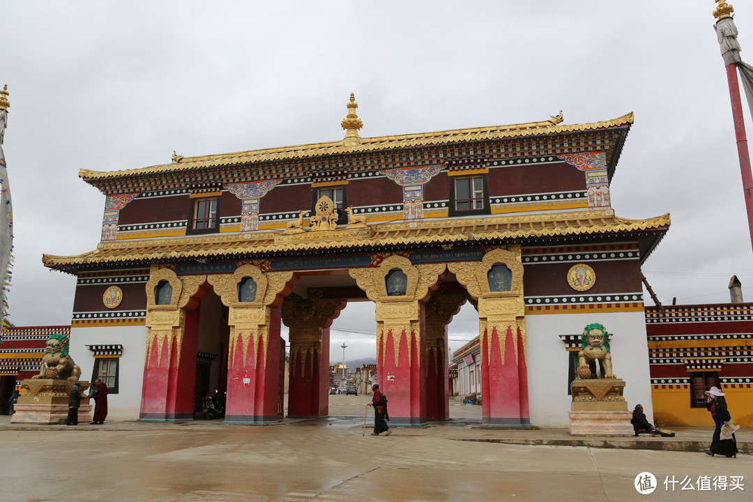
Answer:
<path fill-rule="evenodd" d="M 264 257 L 274 253 L 319 249 L 362 249 L 418 244 L 508 241 L 586 234 L 626 233 L 666 230 L 669 214 L 648 220 L 627 220 L 607 211 L 571 211 L 556 214 L 526 214 L 485 218 L 442 219 L 412 223 L 372 224 L 358 229 L 285 234 L 261 232 L 248 236 L 200 236 L 178 239 L 151 239 L 108 242 L 100 248 L 76 256 L 44 254 L 45 266 L 59 269 L 80 265 L 149 263 L 163 260 L 192 260 L 233 257 Z M 366 233 L 364 233 L 364 230 Z M 355 230 L 354 230 L 355 231 Z M 656 239 L 649 251 L 657 244 Z M 648 253 L 645 253 L 647 256 Z"/>

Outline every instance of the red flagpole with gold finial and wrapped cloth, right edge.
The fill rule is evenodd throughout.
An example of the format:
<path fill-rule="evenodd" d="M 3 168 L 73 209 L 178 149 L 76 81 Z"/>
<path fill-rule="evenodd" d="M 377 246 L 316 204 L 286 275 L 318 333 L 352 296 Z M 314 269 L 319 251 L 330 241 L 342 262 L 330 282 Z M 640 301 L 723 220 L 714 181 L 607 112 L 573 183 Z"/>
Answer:
<path fill-rule="evenodd" d="M 732 20 L 734 8 L 725 0 L 715 0 L 717 8 L 713 12 L 718 18 L 715 29 L 719 36 L 722 56 L 727 63 L 727 87 L 730 91 L 732 105 L 732 120 L 735 127 L 735 141 L 737 143 L 737 158 L 742 175 L 742 193 L 745 197 L 745 212 L 748 215 L 748 234 L 753 248 L 753 174 L 751 174 L 751 160 L 748 152 L 748 136 L 745 134 L 745 117 L 742 114 L 742 98 L 740 84 L 737 77 L 737 63 L 740 62 L 740 47 L 737 43 L 737 29 Z"/>

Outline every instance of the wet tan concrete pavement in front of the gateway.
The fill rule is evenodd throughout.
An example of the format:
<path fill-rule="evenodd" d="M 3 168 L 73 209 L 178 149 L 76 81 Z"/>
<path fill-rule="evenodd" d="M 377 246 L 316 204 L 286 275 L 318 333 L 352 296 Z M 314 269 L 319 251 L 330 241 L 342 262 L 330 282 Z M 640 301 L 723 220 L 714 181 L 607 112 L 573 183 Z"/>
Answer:
<path fill-rule="evenodd" d="M 750 500 L 753 490 L 751 455 L 636 449 L 630 438 L 612 448 L 544 446 L 569 436 L 478 428 L 477 406 L 453 407 L 450 422 L 370 437 L 362 430 L 363 398 L 344 398 L 332 400 L 337 418 L 270 427 L 221 421 L 17 427 L 2 417 L 0 500 Z M 749 444 L 751 434 L 741 432 L 740 443 Z M 679 445 L 710 434 L 710 427 L 688 429 L 673 439 Z M 634 488 L 644 471 L 657 478 L 650 495 Z M 687 476 L 686 488 L 696 489 L 678 483 L 671 491 L 670 483 L 668 491 L 667 476 Z M 744 476 L 745 489 L 700 491 L 703 476 Z M 716 488 L 708 491 L 722 491 Z"/>

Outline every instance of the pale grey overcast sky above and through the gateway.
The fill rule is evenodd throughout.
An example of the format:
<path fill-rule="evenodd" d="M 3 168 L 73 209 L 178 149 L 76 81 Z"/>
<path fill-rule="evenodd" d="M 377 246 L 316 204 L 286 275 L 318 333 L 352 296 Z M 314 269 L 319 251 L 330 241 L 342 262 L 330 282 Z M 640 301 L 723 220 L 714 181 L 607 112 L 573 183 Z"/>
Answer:
<path fill-rule="evenodd" d="M 731 3 L 742 57 L 753 62 L 753 7 Z M 712 0 L 5 2 L 11 321 L 71 321 L 75 278 L 44 269 L 41 255 L 96 248 L 105 198 L 79 169 L 168 163 L 173 150 L 337 140 L 351 92 L 363 137 L 546 120 L 560 109 L 565 123 L 633 111 L 611 197 L 623 218 L 672 214 L 644 266 L 654 291 L 663 303 L 726 302 L 737 274 L 753 300 L 714 8 Z M 368 332 L 368 315 L 373 306 L 350 306 L 334 327 Z M 458 318 L 450 338 L 470 339 L 473 313 Z M 347 359 L 373 355 L 373 336 L 333 331 L 332 340 L 334 361 L 343 340 Z"/>

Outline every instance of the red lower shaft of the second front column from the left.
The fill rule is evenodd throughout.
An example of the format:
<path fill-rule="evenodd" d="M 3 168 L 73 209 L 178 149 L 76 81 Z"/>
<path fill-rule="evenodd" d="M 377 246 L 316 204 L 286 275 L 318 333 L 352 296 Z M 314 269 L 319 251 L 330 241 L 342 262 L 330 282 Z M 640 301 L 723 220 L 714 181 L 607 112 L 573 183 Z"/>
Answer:
<path fill-rule="evenodd" d="M 227 370 L 227 423 L 267 424 L 278 421 L 279 333 L 280 309 L 270 308 L 266 347 L 264 336 L 252 333 L 244 358 L 242 337 L 236 338 L 233 360 Z"/>

